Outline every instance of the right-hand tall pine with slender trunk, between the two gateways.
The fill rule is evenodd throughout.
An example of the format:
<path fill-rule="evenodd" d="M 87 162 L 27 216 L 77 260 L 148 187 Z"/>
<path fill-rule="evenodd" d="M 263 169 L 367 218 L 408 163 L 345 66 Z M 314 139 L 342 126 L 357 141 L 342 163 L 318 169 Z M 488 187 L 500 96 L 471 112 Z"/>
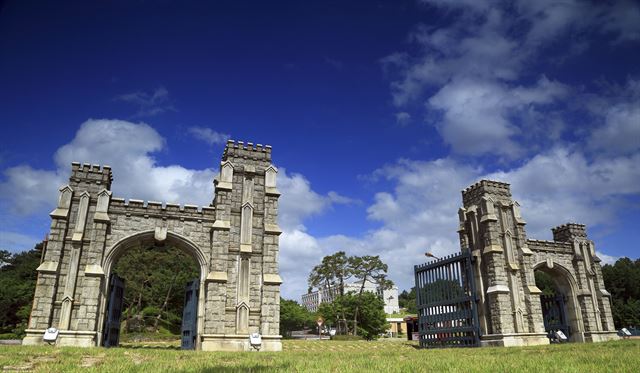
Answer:
<path fill-rule="evenodd" d="M 364 288 L 368 281 L 375 283 L 381 289 L 389 289 L 393 286 L 393 282 L 387 279 L 387 270 L 389 267 L 380 260 L 379 256 L 352 256 L 349 257 L 349 266 L 353 277 L 361 281 L 360 291 L 358 292 L 358 302 L 353 313 L 353 331 L 358 332 L 358 316 L 362 306 Z M 384 307 L 384 304 L 383 304 Z"/>

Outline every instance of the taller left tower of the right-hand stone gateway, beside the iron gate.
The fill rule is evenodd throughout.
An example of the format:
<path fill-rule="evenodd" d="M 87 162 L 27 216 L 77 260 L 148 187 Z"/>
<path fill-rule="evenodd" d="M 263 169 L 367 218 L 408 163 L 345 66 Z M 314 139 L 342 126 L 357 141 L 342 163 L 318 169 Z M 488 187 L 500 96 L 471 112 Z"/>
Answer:
<path fill-rule="evenodd" d="M 467 240 L 481 265 L 476 279 L 484 292 L 485 307 L 479 312 L 483 345 L 529 345 L 548 343 L 541 329 L 540 308 L 535 297 L 530 264 L 532 252 L 526 246 L 526 224 L 519 205 L 511 198 L 509 184 L 482 180 L 462 192 L 466 212 Z M 536 291 L 538 293 L 536 293 Z M 539 321 L 539 322 L 538 322 Z"/>

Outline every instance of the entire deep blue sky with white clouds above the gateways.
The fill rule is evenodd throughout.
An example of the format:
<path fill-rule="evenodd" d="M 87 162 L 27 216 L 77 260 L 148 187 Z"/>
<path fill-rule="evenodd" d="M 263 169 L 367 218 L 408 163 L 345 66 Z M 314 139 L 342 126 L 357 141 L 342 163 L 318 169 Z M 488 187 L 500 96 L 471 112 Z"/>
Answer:
<path fill-rule="evenodd" d="M 337 250 L 401 289 L 457 251 L 460 190 L 512 184 L 530 238 L 638 257 L 631 1 L 30 2 L 0 11 L 0 246 L 31 248 L 71 161 L 116 196 L 207 205 L 227 138 L 273 146 L 284 296 Z"/>

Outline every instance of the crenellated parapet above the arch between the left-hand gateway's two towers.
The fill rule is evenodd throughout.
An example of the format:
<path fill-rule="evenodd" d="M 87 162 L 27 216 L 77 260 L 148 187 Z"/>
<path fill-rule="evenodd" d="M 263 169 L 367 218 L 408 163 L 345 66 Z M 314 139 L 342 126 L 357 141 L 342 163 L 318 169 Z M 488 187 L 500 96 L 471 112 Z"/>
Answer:
<path fill-rule="evenodd" d="M 143 201 L 113 197 L 109 214 L 149 215 L 175 218 L 215 219 L 215 207 L 179 205 L 157 201 Z"/>

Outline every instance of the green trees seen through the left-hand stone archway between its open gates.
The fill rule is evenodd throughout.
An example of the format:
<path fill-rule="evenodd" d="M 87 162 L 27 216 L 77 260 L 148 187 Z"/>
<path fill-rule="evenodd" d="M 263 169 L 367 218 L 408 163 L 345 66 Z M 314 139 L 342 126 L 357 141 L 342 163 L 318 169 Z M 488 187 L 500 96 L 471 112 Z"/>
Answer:
<path fill-rule="evenodd" d="M 184 287 L 199 277 L 195 260 L 175 247 L 134 247 L 113 272 L 125 280 L 125 333 L 180 332 Z"/>

